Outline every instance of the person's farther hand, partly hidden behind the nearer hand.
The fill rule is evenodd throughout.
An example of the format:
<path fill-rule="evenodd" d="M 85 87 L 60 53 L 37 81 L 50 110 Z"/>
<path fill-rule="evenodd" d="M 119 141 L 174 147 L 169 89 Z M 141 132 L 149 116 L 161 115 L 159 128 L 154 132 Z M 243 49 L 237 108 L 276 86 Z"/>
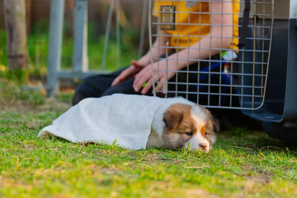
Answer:
<path fill-rule="evenodd" d="M 143 60 L 131 60 L 131 64 L 132 65 L 130 67 L 122 71 L 122 73 L 113 80 L 111 86 L 115 86 L 121 82 L 128 80 L 147 65 L 146 62 Z"/>

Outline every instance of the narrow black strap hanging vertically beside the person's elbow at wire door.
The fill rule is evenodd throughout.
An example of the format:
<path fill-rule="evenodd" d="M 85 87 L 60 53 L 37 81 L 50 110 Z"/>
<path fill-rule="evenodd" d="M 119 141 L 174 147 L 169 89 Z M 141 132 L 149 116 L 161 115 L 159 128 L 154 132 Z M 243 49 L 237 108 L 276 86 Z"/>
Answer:
<path fill-rule="evenodd" d="M 246 45 L 249 11 L 250 11 L 250 0 L 245 0 L 243 24 L 242 24 L 242 29 L 240 33 L 239 43 L 237 45 L 239 48 L 243 48 Z"/>

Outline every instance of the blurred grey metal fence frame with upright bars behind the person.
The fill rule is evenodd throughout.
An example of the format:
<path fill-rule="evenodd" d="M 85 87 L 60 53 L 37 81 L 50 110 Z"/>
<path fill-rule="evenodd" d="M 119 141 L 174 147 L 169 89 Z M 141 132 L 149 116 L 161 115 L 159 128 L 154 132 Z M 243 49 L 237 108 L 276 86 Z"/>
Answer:
<path fill-rule="evenodd" d="M 96 70 L 89 69 L 88 50 L 87 50 L 87 23 L 88 23 L 88 0 L 75 0 L 74 7 L 74 45 L 72 56 L 72 69 L 61 69 L 61 44 L 63 28 L 63 7 L 64 0 L 51 0 L 50 8 L 50 34 L 49 34 L 49 54 L 48 54 L 48 79 L 46 89 L 48 97 L 54 96 L 59 88 L 60 79 L 82 79 L 94 74 L 107 74 L 106 70 L 107 46 L 111 28 L 112 13 L 116 12 L 116 18 L 120 18 L 120 0 L 111 0 L 107 15 L 107 25 L 105 31 L 104 50 L 102 54 L 101 67 Z M 144 37 L 147 19 L 147 2 L 144 2 L 143 24 L 141 26 L 141 36 L 139 45 L 139 56 L 143 53 Z M 116 45 L 117 63 L 116 69 L 121 67 L 120 60 L 120 25 L 116 20 Z"/>

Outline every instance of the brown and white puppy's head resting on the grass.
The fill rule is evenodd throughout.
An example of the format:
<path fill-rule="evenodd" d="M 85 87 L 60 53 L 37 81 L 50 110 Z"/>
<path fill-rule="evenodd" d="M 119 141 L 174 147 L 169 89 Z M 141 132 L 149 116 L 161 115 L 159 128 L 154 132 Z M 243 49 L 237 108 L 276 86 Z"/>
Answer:
<path fill-rule="evenodd" d="M 163 114 L 162 138 L 166 148 L 190 148 L 208 152 L 220 127 L 209 110 L 195 104 L 172 104 Z"/>

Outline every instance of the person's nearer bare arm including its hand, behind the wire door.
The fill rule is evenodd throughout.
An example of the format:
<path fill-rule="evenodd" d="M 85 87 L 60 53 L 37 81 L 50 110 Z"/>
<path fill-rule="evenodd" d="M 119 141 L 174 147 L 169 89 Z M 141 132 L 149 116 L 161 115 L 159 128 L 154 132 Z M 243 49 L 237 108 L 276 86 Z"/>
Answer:
<path fill-rule="evenodd" d="M 167 60 L 160 60 L 158 63 L 146 66 L 146 68 L 135 76 L 133 88 L 136 92 L 141 90 L 144 83 L 147 83 L 147 85 L 142 89 L 142 94 L 146 94 L 152 87 L 151 66 L 154 70 L 165 70 L 166 61 L 168 61 L 168 70 L 176 70 L 177 67 L 178 70 L 181 70 L 188 64 L 191 65 L 197 62 L 190 61 L 189 59 L 207 59 L 221 51 L 217 49 L 226 49 L 231 45 L 233 35 L 232 2 L 229 0 L 224 0 L 224 2 L 221 0 L 220 2 L 212 1 L 209 2 L 209 7 L 210 12 L 217 13 L 211 14 L 210 16 L 210 33 L 189 49 L 174 53 L 168 56 Z M 176 61 L 177 59 L 178 61 Z M 176 65 L 177 62 L 178 65 Z M 159 71 L 158 73 L 159 75 L 154 75 L 154 81 L 164 82 L 166 80 L 166 72 Z M 175 72 L 168 72 L 167 74 L 167 80 L 169 80 L 175 75 Z M 156 79 L 156 76 L 158 76 L 159 79 Z M 162 83 L 158 83 L 155 90 L 160 91 L 162 86 Z"/>

